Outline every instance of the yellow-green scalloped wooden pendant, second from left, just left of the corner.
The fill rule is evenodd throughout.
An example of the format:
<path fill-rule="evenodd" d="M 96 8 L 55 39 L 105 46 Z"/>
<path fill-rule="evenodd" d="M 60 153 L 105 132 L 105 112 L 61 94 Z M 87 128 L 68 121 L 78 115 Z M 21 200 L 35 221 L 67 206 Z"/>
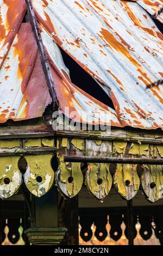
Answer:
<path fill-rule="evenodd" d="M 54 171 L 51 167 L 52 155 L 26 156 L 27 170 L 24 174 L 24 182 L 28 190 L 36 197 L 46 194 L 54 182 Z M 41 177 L 42 181 L 37 178 Z"/>

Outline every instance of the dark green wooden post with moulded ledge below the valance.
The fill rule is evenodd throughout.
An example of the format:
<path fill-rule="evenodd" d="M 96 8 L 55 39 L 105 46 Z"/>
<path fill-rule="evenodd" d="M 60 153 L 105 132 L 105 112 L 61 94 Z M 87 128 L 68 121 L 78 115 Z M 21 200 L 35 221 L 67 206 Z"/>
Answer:
<path fill-rule="evenodd" d="M 58 245 L 66 229 L 58 228 L 58 191 L 55 186 L 43 197 L 35 198 L 35 227 L 26 234 L 32 245 Z"/>

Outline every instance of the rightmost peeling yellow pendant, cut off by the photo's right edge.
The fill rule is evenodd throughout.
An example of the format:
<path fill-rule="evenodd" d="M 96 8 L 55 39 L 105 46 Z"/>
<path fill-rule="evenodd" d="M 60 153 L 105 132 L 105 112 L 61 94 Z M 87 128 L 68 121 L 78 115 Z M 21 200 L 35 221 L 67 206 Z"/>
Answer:
<path fill-rule="evenodd" d="M 162 166 L 146 165 L 142 176 L 141 185 L 147 199 L 154 203 L 163 196 L 163 169 Z"/>

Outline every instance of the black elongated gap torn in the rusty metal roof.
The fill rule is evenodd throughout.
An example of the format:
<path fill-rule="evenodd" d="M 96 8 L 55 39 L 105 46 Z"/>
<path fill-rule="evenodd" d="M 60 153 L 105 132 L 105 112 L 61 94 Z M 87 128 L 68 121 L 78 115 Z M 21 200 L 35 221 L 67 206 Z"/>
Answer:
<path fill-rule="evenodd" d="M 101 101 L 105 105 L 114 108 L 112 100 L 99 86 L 99 84 L 84 70 L 82 69 L 64 50 L 61 50 L 62 58 L 66 67 L 70 70 L 70 78 L 72 83 L 90 94 L 95 99 Z"/>

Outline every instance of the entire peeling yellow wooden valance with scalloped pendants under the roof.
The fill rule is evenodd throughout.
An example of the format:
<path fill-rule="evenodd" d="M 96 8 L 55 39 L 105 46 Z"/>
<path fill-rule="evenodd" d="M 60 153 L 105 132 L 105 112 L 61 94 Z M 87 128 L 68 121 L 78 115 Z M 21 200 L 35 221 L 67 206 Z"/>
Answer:
<path fill-rule="evenodd" d="M 47 193 L 55 182 L 66 198 L 76 196 L 83 185 L 101 201 L 111 187 L 126 200 L 140 188 L 151 202 L 162 198 L 161 134 L 48 131 L 45 136 L 39 132 L 30 138 L 23 134 L 0 139 L 1 198 L 16 193 L 23 180 L 36 197 Z M 21 157 L 26 162 L 23 172 L 18 164 Z M 52 168 L 52 159 L 58 161 L 57 169 Z"/>

